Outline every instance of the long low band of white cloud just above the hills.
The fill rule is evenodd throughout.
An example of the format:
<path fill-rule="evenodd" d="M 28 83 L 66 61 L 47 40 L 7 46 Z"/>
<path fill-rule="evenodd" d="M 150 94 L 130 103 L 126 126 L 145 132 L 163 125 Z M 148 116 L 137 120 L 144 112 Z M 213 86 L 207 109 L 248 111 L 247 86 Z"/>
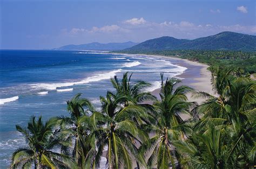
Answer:
<path fill-rule="evenodd" d="M 223 31 L 240 32 L 246 34 L 255 34 L 256 25 L 214 25 L 195 24 L 186 20 L 174 23 L 166 20 L 163 23 L 149 22 L 143 18 L 132 18 L 120 22 L 119 24 L 105 25 L 102 27 L 93 26 L 90 29 L 73 28 L 63 30 L 63 36 L 69 37 L 75 43 L 90 43 L 99 41 L 101 43 L 136 41 L 141 42 L 147 39 L 161 36 L 171 36 L 180 39 L 195 39 L 199 37 L 210 36 Z M 87 40 L 86 40 L 87 39 Z"/>

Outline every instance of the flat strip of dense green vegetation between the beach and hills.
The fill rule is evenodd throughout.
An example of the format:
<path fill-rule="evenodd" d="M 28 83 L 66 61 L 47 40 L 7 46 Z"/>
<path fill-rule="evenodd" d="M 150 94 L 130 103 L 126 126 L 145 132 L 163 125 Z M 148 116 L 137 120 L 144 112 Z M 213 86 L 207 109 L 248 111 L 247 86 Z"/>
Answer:
<path fill-rule="evenodd" d="M 121 53 L 133 54 L 154 54 L 199 61 L 210 65 L 210 68 L 225 67 L 231 68 L 241 73 L 256 73 L 256 52 L 242 51 L 198 51 L 198 50 L 178 50 L 178 51 L 121 51 Z M 241 70 L 242 69 L 242 70 Z"/>

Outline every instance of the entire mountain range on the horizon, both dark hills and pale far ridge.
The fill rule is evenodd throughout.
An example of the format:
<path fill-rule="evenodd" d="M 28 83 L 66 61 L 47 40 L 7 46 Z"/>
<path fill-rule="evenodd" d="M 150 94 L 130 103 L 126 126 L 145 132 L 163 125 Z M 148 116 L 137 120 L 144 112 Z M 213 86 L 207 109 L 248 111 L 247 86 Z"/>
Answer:
<path fill-rule="evenodd" d="M 226 51 L 256 51 L 256 36 L 221 32 L 213 36 L 193 40 L 160 37 L 146 40 L 143 43 L 90 43 L 82 45 L 66 45 L 53 50 L 105 50 L 105 51 L 164 51 L 164 50 L 226 50 Z"/>

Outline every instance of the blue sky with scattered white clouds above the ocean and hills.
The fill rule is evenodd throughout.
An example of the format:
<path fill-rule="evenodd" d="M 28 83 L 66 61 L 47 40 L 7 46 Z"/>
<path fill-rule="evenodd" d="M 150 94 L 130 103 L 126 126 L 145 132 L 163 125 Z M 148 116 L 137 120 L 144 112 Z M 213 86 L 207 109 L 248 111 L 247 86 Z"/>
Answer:
<path fill-rule="evenodd" d="M 0 49 L 195 39 L 223 31 L 256 35 L 256 0 L 0 0 Z"/>

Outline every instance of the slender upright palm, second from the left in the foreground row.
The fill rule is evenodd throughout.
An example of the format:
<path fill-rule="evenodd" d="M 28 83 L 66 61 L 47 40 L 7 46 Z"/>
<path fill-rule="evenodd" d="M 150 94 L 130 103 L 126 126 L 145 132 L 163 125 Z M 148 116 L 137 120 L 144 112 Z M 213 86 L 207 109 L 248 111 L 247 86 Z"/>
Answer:
<path fill-rule="evenodd" d="M 87 143 L 87 135 L 90 132 L 89 119 L 90 112 L 93 111 L 93 105 L 86 98 L 80 98 L 82 94 L 75 95 L 68 104 L 70 117 L 59 117 L 62 130 L 67 133 L 65 139 L 73 142 L 72 157 L 78 166 L 83 167 L 86 160 L 89 160 L 87 154 L 92 150 L 91 144 Z M 65 154 L 69 154 L 70 147 L 62 147 Z"/>

